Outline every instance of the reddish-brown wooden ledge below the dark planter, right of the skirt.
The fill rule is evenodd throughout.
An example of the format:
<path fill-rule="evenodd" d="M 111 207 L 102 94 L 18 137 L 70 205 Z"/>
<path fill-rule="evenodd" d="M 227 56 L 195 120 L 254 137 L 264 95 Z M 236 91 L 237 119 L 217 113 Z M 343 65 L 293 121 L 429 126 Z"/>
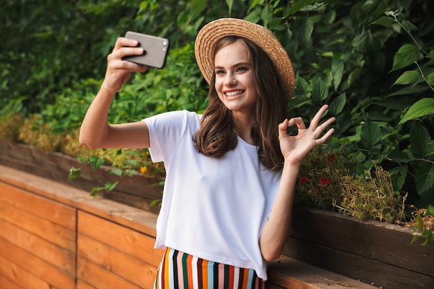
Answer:
<path fill-rule="evenodd" d="M 376 289 L 366 283 L 316 268 L 286 256 L 268 265 L 268 280 L 289 289 Z"/>

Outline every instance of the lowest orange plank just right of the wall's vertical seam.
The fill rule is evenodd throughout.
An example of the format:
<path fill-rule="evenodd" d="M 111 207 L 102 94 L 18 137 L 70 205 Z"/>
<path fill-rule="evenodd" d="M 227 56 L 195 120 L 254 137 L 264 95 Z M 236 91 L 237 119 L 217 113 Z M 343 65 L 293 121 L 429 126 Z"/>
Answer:
<path fill-rule="evenodd" d="M 134 285 L 112 272 L 87 261 L 84 258 L 78 257 L 77 261 L 77 277 L 86 283 L 94 286 L 95 288 L 104 289 L 141 289 L 139 286 Z"/>

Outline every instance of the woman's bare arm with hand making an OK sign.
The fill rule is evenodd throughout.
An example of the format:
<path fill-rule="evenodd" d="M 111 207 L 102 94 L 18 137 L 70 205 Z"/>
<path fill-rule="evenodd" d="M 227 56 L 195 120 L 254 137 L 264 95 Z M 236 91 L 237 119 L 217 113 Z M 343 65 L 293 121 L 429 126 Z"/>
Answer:
<path fill-rule="evenodd" d="M 279 125 L 280 146 L 285 158 L 284 168 L 275 202 L 259 239 L 262 256 L 267 261 L 272 261 L 280 256 L 288 238 L 295 184 L 297 184 L 297 177 L 303 159 L 315 146 L 324 143 L 334 131 L 332 128 L 320 137 L 320 134 L 335 121 L 335 118 L 332 117 L 319 125 L 321 116 L 327 108 L 327 105 L 321 107 L 313 117 L 309 128 L 306 128 L 302 118 L 286 119 Z M 297 125 L 298 134 L 289 136 L 286 129 L 293 125 Z"/>

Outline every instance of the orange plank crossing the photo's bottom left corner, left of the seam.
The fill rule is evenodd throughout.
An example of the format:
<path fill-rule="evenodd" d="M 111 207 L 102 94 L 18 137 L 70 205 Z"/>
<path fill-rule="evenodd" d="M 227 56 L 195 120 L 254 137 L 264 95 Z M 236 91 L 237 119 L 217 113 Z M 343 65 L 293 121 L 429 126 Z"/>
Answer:
<path fill-rule="evenodd" d="M 26 289 L 50 289 L 49 283 L 0 256 L 0 274 Z"/>

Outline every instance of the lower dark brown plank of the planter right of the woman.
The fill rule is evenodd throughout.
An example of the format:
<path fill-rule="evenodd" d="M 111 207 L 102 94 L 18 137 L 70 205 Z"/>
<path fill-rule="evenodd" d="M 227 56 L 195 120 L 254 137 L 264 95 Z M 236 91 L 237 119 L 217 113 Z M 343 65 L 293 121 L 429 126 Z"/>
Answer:
<path fill-rule="evenodd" d="M 284 255 L 385 289 L 434 288 L 433 277 L 295 238 L 288 240 Z"/>

